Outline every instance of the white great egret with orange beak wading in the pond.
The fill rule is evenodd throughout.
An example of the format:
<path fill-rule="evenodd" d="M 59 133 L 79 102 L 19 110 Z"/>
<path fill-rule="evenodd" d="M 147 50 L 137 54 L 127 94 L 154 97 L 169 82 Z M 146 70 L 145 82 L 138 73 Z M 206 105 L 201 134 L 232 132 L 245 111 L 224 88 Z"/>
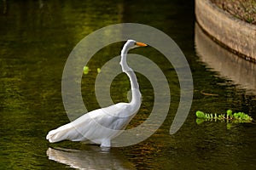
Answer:
<path fill-rule="evenodd" d="M 90 140 L 92 143 L 101 144 L 101 147 L 110 147 L 111 139 L 125 129 L 131 118 L 136 115 L 142 103 L 137 77 L 127 65 L 126 55 L 131 48 L 145 47 L 147 44 L 128 40 L 121 51 L 120 65 L 131 82 L 131 102 L 118 103 L 80 116 L 73 122 L 49 131 L 46 139 L 50 143 L 69 139 L 72 141 Z"/>

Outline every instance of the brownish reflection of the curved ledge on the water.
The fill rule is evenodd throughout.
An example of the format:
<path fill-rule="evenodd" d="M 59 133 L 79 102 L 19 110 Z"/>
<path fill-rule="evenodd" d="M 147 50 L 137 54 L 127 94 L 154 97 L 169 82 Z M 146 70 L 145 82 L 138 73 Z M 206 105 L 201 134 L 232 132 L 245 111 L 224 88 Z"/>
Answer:
<path fill-rule="evenodd" d="M 195 25 L 195 50 L 201 61 L 213 71 L 218 71 L 221 77 L 230 79 L 241 88 L 247 88 L 248 93 L 256 94 L 256 64 L 253 64 L 236 54 L 224 49 Z"/>

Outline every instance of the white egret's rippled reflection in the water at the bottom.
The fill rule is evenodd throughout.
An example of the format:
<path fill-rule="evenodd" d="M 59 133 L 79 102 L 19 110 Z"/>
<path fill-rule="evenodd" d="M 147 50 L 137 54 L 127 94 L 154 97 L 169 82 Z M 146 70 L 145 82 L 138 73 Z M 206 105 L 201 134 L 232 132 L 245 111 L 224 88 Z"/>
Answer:
<path fill-rule="evenodd" d="M 85 150 L 71 150 L 64 148 L 49 148 L 49 160 L 66 164 L 73 168 L 82 169 L 136 169 L 135 166 L 117 150 L 100 148 L 90 145 Z"/>

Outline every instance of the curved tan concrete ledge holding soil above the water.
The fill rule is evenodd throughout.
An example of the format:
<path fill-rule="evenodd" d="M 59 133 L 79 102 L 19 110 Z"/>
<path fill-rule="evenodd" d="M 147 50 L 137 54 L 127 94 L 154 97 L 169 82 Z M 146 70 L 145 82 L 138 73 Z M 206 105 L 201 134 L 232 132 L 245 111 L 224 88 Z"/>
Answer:
<path fill-rule="evenodd" d="M 210 0 L 195 0 L 195 17 L 201 28 L 217 42 L 256 62 L 256 26 L 236 19 Z"/>

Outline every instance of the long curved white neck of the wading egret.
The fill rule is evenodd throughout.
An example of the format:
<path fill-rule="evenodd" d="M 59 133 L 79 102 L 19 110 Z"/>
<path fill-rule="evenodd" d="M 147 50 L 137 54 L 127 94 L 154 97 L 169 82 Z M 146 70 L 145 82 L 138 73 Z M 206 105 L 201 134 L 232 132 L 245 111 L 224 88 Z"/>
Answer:
<path fill-rule="evenodd" d="M 128 53 L 128 49 L 123 48 L 123 50 L 121 51 L 120 65 L 122 67 L 122 71 L 125 72 L 125 74 L 129 77 L 131 82 L 131 95 L 132 95 L 131 104 L 140 106 L 142 102 L 142 99 L 141 99 L 142 95 L 140 93 L 137 77 L 134 71 L 127 65 L 127 61 L 126 61 L 127 53 Z"/>

